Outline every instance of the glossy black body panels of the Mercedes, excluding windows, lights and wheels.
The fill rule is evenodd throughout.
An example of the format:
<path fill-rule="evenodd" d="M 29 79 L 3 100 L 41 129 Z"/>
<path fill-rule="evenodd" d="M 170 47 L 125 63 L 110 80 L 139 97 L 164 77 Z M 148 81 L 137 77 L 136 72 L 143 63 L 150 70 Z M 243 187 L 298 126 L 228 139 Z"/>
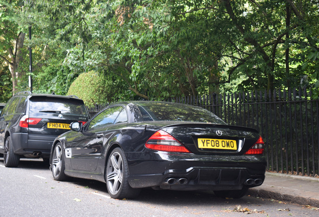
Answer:
<path fill-rule="evenodd" d="M 105 182 L 104 172 L 108 155 L 111 150 L 120 147 L 128 161 L 129 184 L 134 188 L 166 188 L 163 182 L 168 177 L 185 177 L 189 180 L 188 185 L 174 185 L 170 186 L 171 189 L 212 190 L 241 189 L 248 178 L 264 179 L 264 157 L 243 155 L 258 140 L 259 134 L 256 130 L 226 124 L 143 122 L 142 115 L 134 103 L 138 102 L 116 104 L 125 108 L 128 115 L 127 123 L 88 131 L 88 122 L 81 132 L 67 132 L 55 140 L 54 145 L 61 142 L 64 151 L 72 149 L 72 157 L 65 158 L 67 175 Z M 148 138 L 159 129 L 173 135 L 191 153 L 168 153 L 145 148 Z M 217 136 L 216 130 L 221 130 L 223 135 Z M 197 138 L 242 140 L 243 146 L 240 151 L 201 150 L 197 148 Z"/>

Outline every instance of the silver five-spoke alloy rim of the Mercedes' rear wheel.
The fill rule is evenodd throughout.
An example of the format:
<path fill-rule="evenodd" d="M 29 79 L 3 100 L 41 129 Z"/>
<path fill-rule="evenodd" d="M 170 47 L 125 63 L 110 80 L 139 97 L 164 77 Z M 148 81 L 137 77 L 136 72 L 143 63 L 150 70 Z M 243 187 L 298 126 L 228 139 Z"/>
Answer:
<path fill-rule="evenodd" d="M 114 152 L 107 163 L 106 179 L 110 193 L 116 194 L 123 180 L 123 160 L 118 152 Z"/>

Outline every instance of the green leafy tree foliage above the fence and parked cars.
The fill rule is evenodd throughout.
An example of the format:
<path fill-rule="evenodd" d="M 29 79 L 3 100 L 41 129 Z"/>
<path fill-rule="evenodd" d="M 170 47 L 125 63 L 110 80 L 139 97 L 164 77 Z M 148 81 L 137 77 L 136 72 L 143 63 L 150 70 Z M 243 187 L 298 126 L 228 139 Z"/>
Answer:
<path fill-rule="evenodd" d="M 93 70 L 116 81 L 121 96 L 112 100 L 305 85 L 319 95 L 315 0 L 12 3 L 0 0 L 2 11 L 10 9 L 0 13 L 0 55 L 7 58 L 17 34 L 32 25 L 26 46 L 34 52 L 35 92 L 65 94 Z M 28 88 L 27 79 L 19 86 Z"/>

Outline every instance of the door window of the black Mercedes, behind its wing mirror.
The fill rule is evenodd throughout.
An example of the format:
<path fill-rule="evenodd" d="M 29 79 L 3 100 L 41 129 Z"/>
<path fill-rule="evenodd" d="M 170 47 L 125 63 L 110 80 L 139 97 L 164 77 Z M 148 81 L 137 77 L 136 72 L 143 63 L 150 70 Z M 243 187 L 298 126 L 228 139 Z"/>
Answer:
<path fill-rule="evenodd" d="M 113 124 L 122 109 L 122 106 L 107 108 L 90 122 L 88 130 Z"/>

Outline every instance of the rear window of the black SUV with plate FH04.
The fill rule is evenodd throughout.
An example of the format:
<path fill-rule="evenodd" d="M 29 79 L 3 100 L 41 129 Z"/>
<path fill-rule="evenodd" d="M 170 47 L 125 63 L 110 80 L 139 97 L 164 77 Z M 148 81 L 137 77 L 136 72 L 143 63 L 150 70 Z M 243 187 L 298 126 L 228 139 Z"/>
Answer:
<path fill-rule="evenodd" d="M 68 98 L 32 97 L 30 113 L 47 112 L 88 116 L 83 101 Z"/>

